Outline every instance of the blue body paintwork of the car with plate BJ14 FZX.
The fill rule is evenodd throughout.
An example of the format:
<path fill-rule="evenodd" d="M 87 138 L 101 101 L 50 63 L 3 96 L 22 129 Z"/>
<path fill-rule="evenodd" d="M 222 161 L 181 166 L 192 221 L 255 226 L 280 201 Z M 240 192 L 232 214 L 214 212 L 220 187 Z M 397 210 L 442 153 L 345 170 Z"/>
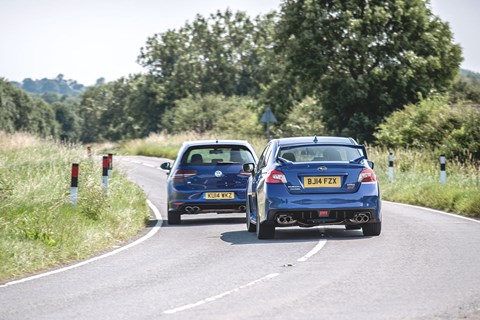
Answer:
<path fill-rule="evenodd" d="M 312 148 L 335 147 L 347 148 L 356 154 L 356 161 L 308 161 L 290 162 L 280 158 L 280 152 L 294 150 L 297 146 L 310 146 Z M 355 158 L 354 156 L 353 158 Z M 274 225 L 275 227 L 292 225 L 352 225 L 348 219 L 345 221 L 332 221 L 332 219 L 317 218 L 315 221 L 300 221 L 292 225 L 282 225 L 276 221 L 279 214 L 299 211 L 320 210 L 370 212 L 368 223 L 381 225 L 381 197 L 378 181 L 359 182 L 359 174 L 364 169 L 370 169 L 371 162 L 367 161 L 367 152 L 363 145 L 358 145 L 355 140 L 344 137 L 300 137 L 274 139 L 266 146 L 258 166 L 255 168 L 247 187 L 248 206 L 247 218 L 252 224 L 258 222 Z M 319 172 L 319 167 L 326 168 L 325 173 Z M 266 183 L 266 178 L 271 170 L 283 172 L 286 183 Z M 304 176 L 340 176 L 339 188 L 304 188 Z M 258 217 L 257 217 L 258 215 Z M 341 219 L 340 219 L 341 220 Z M 306 225 L 308 223 L 308 225 Z M 257 226 L 258 228 L 258 226 Z"/>

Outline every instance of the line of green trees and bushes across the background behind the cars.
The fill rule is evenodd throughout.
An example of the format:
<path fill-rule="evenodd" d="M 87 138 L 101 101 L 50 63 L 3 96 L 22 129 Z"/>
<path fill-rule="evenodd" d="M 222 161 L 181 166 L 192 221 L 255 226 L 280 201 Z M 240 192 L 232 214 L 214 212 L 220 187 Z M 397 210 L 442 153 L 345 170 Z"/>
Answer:
<path fill-rule="evenodd" d="M 433 95 L 450 108 L 480 103 L 478 74 L 459 73 L 461 60 L 448 24 L 423 0 L 287 0 L 254 18 L 218 11 L 152 35 L 138 57 L 145 74 L 97 83 L 71 104 L 57 99 L 58 123 L 33 131 L 82 142 L 160 131 L 260 135 L 270 107 L 277 136 L 382 143 L 381 125 L 405 106 Z M 27 113 L 43 108 L 34 101 Z"/>

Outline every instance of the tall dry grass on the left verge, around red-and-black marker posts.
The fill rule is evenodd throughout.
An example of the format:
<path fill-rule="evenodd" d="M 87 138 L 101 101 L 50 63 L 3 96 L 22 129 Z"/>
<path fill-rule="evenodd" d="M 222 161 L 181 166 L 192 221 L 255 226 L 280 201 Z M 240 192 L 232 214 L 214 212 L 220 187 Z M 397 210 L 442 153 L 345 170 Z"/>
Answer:
<path fill-rule="evenodd" d="M 79 199 L 69 203 L 72 163 Z M 89 257 L 145 226 L 145 195 L 114 170 L 108 196 L 101 160 L 85 149 L 0 133 L 0 281 Z"/>

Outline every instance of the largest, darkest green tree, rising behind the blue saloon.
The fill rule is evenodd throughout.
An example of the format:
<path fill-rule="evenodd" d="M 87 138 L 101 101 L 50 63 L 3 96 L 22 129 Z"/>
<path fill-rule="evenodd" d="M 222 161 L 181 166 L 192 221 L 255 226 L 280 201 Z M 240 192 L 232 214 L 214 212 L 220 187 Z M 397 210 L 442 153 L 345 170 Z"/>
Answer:
<path fill-rule="evenodd" d="M 392 111 L 446 91 L 462 60 L 424 0 L 286 0 L 277 49 L 328 129 L 367 141 Z"/>

